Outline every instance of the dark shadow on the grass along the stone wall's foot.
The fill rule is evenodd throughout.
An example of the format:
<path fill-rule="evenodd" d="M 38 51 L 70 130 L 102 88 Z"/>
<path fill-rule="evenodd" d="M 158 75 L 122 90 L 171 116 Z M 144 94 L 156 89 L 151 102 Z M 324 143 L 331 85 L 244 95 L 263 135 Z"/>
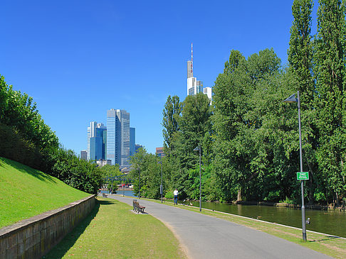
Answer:
<path fill-rule="evenodd" d="M 95 208 L 93 211 L 90 212 L 90 214 L 83 219 L 83 221 L 78 224 L 73 230 L 68 233 L 63 240 L 58 243 L 47 255 L 43 256 L 44 259 L 56 259 L 56 258 L 63 258 L 63 256 L 70 250 L 71 247 L 75 244 L 75 241 L 78 240 L 80 235 L 83 234 L 85 231 L 85 228 L 88 227 L 90 222 L 95 218 L 95 216 L 98 214 L 98 210 L 100 209 L 100 205 L 108 205 L 112 204 L 112 202 L 108 201 L 100 201 L 96 200 Z"/>

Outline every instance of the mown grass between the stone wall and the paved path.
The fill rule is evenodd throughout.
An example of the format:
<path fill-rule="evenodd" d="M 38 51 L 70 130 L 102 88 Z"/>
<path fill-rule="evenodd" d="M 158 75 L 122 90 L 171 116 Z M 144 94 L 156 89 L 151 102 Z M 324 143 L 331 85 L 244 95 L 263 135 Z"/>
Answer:
<path fill-rule="evenodd" d="M 94 211 L 44 258 L 187 258 L 169 228 L 98 197 Z"/>

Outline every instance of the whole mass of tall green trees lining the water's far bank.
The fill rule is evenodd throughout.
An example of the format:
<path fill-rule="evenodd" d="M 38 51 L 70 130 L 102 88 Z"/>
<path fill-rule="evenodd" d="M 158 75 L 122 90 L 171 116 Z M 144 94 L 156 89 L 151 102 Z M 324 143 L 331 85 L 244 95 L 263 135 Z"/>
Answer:
<path fill-rule="evenodd" d="M 314 37 L 313 1 L 293 1 L 288 67 L 273 50 L 248 58 L 231 50 L 216 78 L 213 106 L 200 105 L 199 95 L 187 97 L 174 130 L 165 123 L 173 121 L 167 99 L 167 194 L 177 187 L 182 198 L 199 198 L 199 160 L 192 150 L 200 144 L 204 199 L 299 203 L 298 112 L 283 100 L 300 91 L 303 170 L 310 175 L 305 197 L 310 203 L 345 199 L 345 5 L 319 4 Z"/>

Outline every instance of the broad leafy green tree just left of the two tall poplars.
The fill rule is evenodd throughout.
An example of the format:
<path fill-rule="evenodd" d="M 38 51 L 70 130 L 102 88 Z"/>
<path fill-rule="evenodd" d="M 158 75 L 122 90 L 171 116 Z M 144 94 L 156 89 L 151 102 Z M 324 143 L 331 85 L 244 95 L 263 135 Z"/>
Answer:
<path fill-rule="evenodd" d="M 274 150 L 284 150 L 271 134 L 282 121 L 282 81 L 280 59 L 273 50 L 262 50 L 246 60 L 232 50 L 234 65 L 214 86 L 214 170 L 222 190 L 219 199 L 279 199 L 284 195 Z M 273 121 L 275 120 L 275 121 Z M 282 124 L 282 123 L 281 123 Z M 281 152 L 285 159 L 285 152 Z M 276 161 L 276 164 L 273 162 Z M 282 192 L 282 193 L 281 193 Z"/>

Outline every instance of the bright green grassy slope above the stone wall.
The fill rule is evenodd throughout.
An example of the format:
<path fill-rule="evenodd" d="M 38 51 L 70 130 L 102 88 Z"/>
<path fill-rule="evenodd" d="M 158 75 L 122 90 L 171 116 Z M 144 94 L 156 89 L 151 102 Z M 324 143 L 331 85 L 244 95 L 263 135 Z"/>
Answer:
<path fill-rule="evenodd" d="M 0 228 L 89 195 L 41 171 L 0 158 Z"/>

